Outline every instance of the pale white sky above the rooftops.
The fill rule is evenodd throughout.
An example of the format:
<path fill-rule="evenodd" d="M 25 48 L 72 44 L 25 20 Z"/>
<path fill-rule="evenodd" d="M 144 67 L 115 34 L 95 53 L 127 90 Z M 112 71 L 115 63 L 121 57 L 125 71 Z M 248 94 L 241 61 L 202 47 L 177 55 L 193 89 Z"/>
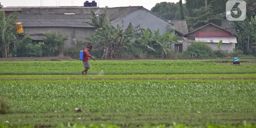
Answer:
<path fill-rule="evenodd" d="M 56 6 L 56 1 L 57 1 L 57 6 L 72 6 L 73 1 L 73 6 L 83 6 L 84 2 L 86 0 L 1 0 L 1 4 L 6 7 L 6 6 L 40 6 L 40 1 L 43 1 L 43 6 Z M 91 2 L 92 0 L 88 0 Z M 160 2 L 179 2 L 179 0 L 95 0 L 97 2 L 97 6 L 100 7 L 120 7 L 120 6 L 143 6 L 144 8 L 150 10 L 152 7 L 156 5 L 156 3 Z M 182 0 L 182 3 L 185 3 L 185 0 Z"/>

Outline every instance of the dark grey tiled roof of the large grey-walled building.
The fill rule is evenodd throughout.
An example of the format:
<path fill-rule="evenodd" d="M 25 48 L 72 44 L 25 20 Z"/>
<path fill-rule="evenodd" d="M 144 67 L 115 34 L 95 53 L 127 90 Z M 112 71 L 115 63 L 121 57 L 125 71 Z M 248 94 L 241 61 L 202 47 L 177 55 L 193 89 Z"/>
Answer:
<path fill-rule="evenodd" d="M 107 16 L 109 20 L 112 22 L 121 18 L 122 16 L 139 9 L 142 6 L 128 6 L 128 7 L 114 7 L 107 8 Z M 22 11 L 26 11 L 27 8 L 22 8 Z M 73 11 L 77 11 L 78 14 L 75 15 L 65 15 L 63 13 L 74 13 Z M 74 10 L 75 9 L 75 10 Z M 81 9 L 81 8 L 80 8 Z M 29 13 L 21 13 L 19 19 L 24 27 L 92 27 L 88 24 L 84 24 L 83 21 L 90 21 L 89 15 L 91 14 L 89 8 L 83 8 L 80 10 L 79 8 L 58 8 L 58 9 L 38 9 L 33 10 L 31 8 Z M 104 13 L 106 8 L 93 8 L 93 11 L 96 14 Z M 71 10 L 71 11 L 70 11 Z M 45 14 L 46 12 L 52 14 Z M 57 11 L 57 14 L 55 13 Z M 58 12 L 60 11 L 60 12 Z M 42 12 L 41 14 L 37 12 Z M 54 12 L 54 13 L 53 13 Z M 60 13 L 60 14 L 58 14 Z M 76 13 L 76 12 L 75 12 Z"/>

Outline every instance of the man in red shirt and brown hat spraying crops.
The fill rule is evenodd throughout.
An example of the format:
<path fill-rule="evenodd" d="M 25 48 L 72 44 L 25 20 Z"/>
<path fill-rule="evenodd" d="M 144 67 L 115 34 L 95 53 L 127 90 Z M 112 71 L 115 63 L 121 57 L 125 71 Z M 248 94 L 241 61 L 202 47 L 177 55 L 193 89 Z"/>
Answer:
<path fill-rule="evenodd" d="M 92 50 L 92 45 L 90 45 L 89 47 L 87 47 L 87 49 L 84 50 L 84 59 L 83 59 L 83 63 L 84 63 L 84 70 L 82 71 L 82 75 L 84 75 L 85 72 L 85 76 L 87 75 L 87 71 L 88 69 L 90 69 L 90 64 L 89 64 L 89 57 L 94 59 L 94 57 L 92 57 L 91 55 L 89 55 L 89 51 Z"/>

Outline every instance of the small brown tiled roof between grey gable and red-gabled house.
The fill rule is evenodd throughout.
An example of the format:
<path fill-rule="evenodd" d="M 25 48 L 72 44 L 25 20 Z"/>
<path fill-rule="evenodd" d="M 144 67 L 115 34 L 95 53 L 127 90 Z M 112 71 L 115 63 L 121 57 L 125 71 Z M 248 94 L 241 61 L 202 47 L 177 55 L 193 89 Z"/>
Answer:
<path fill-rule="evenodd" d="M 188 27 L 186 20 L 169 20 L 171 23 L 174 24 L 174 27 L 177 31 L 182 33 L 183 35 L 188 33 Z"/>

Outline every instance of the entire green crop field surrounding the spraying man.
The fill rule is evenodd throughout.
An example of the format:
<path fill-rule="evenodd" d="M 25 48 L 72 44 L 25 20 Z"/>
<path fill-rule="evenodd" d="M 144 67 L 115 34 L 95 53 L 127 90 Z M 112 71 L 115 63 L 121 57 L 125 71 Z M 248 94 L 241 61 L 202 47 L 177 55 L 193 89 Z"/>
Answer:
<path fill-rule="evenodd" d="M 0 61 L 0 127 L 255 127 L 256 59 L 230 61 Z"/>

